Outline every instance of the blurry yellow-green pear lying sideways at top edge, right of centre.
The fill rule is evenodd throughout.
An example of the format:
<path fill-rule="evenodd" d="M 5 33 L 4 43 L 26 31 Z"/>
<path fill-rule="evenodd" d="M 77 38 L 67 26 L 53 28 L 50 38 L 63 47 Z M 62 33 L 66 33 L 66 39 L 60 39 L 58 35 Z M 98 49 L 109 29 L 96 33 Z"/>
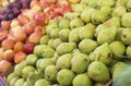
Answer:
<path fill-rule="evenodd" d="M 114 0 L 98 0 L 96 4 L 97 4 L 98 8 L 102 8 L 102 7 L 114 7 L 115 5 L 115 1 Z"/>

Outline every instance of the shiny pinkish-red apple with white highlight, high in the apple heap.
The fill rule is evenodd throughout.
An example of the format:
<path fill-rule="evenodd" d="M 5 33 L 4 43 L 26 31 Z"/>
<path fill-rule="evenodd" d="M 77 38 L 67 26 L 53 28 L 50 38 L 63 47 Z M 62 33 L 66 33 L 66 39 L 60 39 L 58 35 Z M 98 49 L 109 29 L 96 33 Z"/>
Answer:
<path fill-rule="evenodd" d="M 35 21 L 36 21 L 37 25 L 45 25 L 45 20 L 46 20 L 46 17 L 45 17 L 44 13 L 39 12 L 39 13 L 35 14 Z"/>

